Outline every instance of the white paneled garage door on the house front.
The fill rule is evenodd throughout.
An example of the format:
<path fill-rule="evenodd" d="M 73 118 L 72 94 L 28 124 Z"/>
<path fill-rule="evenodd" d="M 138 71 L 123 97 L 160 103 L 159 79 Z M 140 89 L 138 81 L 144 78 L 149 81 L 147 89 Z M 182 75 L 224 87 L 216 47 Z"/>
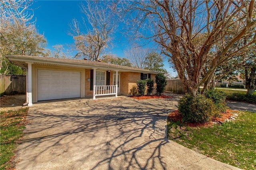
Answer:
<path fill-rule="evenodd" d="M 80 97 L 80 72 L 38 70 L 38 101 Z"/>

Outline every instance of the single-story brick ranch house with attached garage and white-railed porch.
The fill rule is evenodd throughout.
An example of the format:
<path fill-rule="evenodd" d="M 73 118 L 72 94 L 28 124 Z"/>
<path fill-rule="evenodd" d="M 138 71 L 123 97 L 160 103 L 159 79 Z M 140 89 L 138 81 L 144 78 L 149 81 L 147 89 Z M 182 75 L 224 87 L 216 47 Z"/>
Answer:
<path fill-rule="evenodd" d="M 98 61 L 6 55 L 27 71 L 27 102 L 123 94 L 158 72 Z M 118 76 L 116 76 L 118 75 Z M 117 90 L 116 90 L 117 88 Z"/>

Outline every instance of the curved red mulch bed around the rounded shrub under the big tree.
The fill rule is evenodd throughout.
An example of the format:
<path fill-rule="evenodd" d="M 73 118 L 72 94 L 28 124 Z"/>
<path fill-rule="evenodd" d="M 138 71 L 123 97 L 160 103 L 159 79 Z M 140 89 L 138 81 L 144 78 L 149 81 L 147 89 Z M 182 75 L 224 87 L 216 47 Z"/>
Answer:
<path fill-rule="evenodd" d="M 212 118 L 212 121 L 206 123 L 185 123 L 182 122 L 182 115 L 180 114 L 180 112 L 176 110 L 168 115 L 168 120 L 173 122 L 179 121 L 187 125 L 188 127 L 210 127 L 214 124 L 213 122 L 224 122 L 226 119 L 229 119 L 233 115 L 232 112 L 234 112 L 234 110 L 227 109 L 225 113 L 221 114 L 221 117 L 214 117 Z"/>

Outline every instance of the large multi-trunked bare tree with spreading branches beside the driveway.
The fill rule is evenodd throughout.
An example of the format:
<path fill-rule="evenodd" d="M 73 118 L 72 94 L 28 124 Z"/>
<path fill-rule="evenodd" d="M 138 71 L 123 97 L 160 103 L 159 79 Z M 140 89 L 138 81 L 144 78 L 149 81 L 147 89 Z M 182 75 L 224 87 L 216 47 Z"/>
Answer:
<path fill-rule="evenodd" d="M 222 63 L 243 54 L 256 42 L 255 1 L 150 0 L 131 2 L 126 14 L 136 16 L 137 28 L 170 57 L 182 84 L 196 96 L 208 87 Z M 128 13 L 130 12 L 130 13 Z M 137 15 L 136 15 L 137 14 Z M 254 28 L 254 29 L 253 29 Z M 250 41 L 245 41 L 253 35 Z M 241 42 L 246 42 L 242 43 Z M 220 44 L 220 45 L 219 45 Z"/>

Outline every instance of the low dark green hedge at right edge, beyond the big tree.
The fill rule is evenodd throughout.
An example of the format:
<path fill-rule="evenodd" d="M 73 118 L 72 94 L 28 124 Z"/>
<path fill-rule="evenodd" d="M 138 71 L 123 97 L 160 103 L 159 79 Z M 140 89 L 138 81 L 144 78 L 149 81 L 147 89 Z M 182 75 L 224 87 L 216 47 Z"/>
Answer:
<path fill-rule="evenodd" d="M 241 94 L 241 93 L 232 93 L 228 94 L 228 100 L 235 100 L 238 102 L 247 102 L 256 104 L 256 94 Z"/>

